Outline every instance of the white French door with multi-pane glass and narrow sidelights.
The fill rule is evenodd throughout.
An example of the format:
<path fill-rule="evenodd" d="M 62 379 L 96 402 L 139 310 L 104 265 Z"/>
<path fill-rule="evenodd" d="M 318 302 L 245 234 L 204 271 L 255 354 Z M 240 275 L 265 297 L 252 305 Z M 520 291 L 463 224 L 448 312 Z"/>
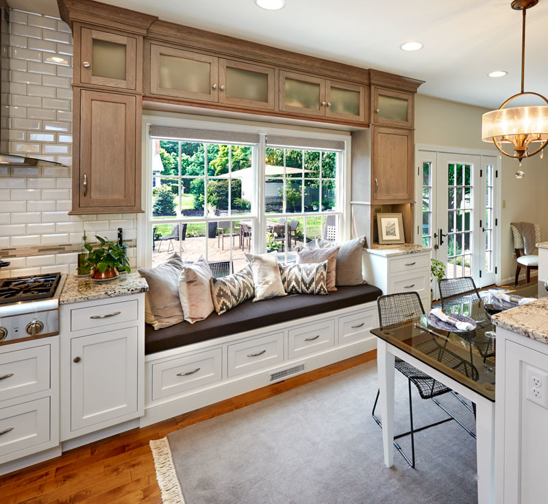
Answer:
<path fill-rule="evenodd" d="M 447 278 L 495 283 L 496 157 L 419 151 L 422 205 L 418 240 L 432 247 Z"/>

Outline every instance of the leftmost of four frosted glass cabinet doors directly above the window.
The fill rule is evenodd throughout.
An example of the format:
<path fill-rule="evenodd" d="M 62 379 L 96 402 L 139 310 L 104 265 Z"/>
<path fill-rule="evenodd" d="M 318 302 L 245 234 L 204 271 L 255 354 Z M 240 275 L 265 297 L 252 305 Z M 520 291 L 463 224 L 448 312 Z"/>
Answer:
<path fill-rule="evenodd" d="M 218 58 L 155 44 L 150 53 L 151 94 L 217 101 Z"/>

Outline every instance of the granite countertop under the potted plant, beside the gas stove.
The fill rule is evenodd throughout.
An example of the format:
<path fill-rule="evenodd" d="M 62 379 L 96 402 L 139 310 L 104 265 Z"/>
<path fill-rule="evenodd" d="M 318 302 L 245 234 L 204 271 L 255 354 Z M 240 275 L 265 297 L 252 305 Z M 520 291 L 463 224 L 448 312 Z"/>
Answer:
<path fill-rule="evenodd" d="M 115 280 L 97 282 L 90 277 L 67 275 L 63 290 L 59 297 L 59 304 L 79 303 L 107 297 L 129 296 L 149 290 L 147 281 L 139 273 L 120 275 Z"/>

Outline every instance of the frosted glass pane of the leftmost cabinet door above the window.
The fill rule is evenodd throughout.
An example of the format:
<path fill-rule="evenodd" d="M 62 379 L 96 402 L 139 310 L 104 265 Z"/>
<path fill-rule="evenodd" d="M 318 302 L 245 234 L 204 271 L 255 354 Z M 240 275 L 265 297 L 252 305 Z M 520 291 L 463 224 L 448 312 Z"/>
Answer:
<path fill-rule="evenodd" d="M 210 75 L 208 62 L 160 54 L 160 88 L 209 95 Z"/>

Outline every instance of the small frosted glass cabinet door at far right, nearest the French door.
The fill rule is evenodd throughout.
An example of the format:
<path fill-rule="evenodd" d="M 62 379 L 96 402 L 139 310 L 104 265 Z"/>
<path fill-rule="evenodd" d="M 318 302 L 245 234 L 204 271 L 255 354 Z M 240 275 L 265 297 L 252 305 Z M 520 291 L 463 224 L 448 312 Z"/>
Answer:
<path fill-rule="evenodd" d="M 413 94 L 373 86 L 371 122 L 378 125 L 413 127 Z"/>

